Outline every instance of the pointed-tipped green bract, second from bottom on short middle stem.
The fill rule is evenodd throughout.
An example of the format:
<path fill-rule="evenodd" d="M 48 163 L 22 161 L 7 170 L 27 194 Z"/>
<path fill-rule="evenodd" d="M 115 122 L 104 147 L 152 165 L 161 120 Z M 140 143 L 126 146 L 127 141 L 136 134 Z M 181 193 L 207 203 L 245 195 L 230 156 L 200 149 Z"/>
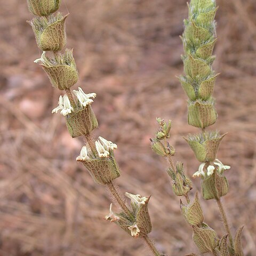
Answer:
<path fill-rule="evenodd" d="M 203 223 L 204 215 L 199 202 L 198 192 L 196 192 L 196 196 L 193 202 L 184 205 L 181 203 L 181 210 L 185 220 L 191 226 L 197 226 Z"/>

